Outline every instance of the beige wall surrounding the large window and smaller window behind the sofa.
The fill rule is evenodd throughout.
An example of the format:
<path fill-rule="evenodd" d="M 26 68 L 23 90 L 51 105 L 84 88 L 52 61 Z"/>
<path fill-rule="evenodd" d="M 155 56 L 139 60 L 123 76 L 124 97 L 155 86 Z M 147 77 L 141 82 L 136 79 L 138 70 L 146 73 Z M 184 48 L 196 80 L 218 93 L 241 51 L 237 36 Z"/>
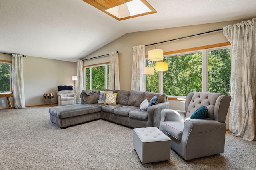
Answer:
<path fill-rule="evenodd" d="M 227 25 L 240 23 L 241 21 L 242 20 L 227 21 L 227 22 L 220 22 L 220 23 L 210 23 L 210 24 L 203 24 L 203 25 L 193 25 L 193 26 L 186 26 L 186 27 L 128 33 L 112 41 L 108 45 L 98 49 L 94 53 L 84 57 L 84 59 L 105 55 L 112 51 L 118 51 L 119 52 L 119 68 L 120 68 L 120 89 L 130 90 L 133 46 L 142 45 L 142 44 L 148 45 L 148 44 L 158 43 L 158 42 L 176 39 L 180 37 L 186 37 L 189 35 L 195 35 L 198 33 L 204 33 L 208 31 L 220 29 Z M 187 49 L 192 47 L 200 47 L 204 45 L 212 45 L 212 44 L 224 43 L 224 42 L 228 42 L 228 40 L 223 35 L 223 32 L 216 31 L 213 33 L 181 39 L 180 41 L 176 40 L 176 41 L 170 41 L 167 43 L 147 46 L 146 55 L 148 55 L 148 50 L 155 49 L 155 47 L 157 49 L 163 49 L 164 52 L 168 52 L 168 51 L 175 51 L 175 50 Z M 90 64 L 102 63 L 99 59 L 100 58 L 84 61 L 84 66 L 90 65 Z M 109 61 L 107 57 L 104 58 L 104 62 L 106 61 Z M 170 109 L 184 110 L 184 102 L 176 101 L 176 100 L 169 100 L 169 102 L 170 102 Z M 226 123 L 228 127 L 228 117 L 226 119 Z"/>

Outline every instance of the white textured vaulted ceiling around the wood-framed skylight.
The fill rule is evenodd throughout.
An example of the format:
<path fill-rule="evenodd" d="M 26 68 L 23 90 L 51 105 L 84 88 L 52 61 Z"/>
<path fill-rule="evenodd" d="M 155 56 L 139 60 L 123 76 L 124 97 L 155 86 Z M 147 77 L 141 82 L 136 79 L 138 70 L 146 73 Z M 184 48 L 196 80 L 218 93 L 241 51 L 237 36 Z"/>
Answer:
<path fill-rule="evenodd" d="M 76 62 L 126 33 L 256 17 L 256 0 L 147 1 L 157 13 L 118 21 L 82 0 L 0 0 L 0 52 Z"/>

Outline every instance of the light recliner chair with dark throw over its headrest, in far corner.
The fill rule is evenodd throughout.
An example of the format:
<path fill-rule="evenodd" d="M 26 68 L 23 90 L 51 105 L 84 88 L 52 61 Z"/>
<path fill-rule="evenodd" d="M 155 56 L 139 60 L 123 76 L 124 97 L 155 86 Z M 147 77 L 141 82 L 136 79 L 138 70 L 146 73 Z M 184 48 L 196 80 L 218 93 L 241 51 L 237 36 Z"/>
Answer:
<path fill-rule="evenodd" d="M 58 106 L 76 104 L 76 93 L 73 86 L 58 86 Z"/>

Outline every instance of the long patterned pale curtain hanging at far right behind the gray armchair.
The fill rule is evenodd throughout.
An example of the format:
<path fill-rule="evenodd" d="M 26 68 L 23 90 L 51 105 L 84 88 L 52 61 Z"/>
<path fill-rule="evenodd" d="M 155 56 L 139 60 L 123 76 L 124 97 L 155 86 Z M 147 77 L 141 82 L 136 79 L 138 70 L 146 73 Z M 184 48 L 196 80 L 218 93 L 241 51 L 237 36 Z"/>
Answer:
<path fill-rule="evenodd" d="M 255 140 L 256 19 L 223 27 L 232 46 L 229 129 L 248 141 Z"/>

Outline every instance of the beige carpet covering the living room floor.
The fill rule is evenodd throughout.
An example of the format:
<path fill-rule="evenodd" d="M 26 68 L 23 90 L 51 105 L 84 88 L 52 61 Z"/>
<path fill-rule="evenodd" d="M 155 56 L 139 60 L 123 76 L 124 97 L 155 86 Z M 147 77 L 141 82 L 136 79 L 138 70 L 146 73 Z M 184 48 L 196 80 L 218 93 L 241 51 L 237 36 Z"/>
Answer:
<path fill-rule="evenodd" d="M 256 169 L 256 141 L 226 132 L 225 152 L 184 161 L 141 164 L 132 129 L 104 120 L 60 129 L 49 106 L 0 111 L 0 170 L 249 170 Z"/>

